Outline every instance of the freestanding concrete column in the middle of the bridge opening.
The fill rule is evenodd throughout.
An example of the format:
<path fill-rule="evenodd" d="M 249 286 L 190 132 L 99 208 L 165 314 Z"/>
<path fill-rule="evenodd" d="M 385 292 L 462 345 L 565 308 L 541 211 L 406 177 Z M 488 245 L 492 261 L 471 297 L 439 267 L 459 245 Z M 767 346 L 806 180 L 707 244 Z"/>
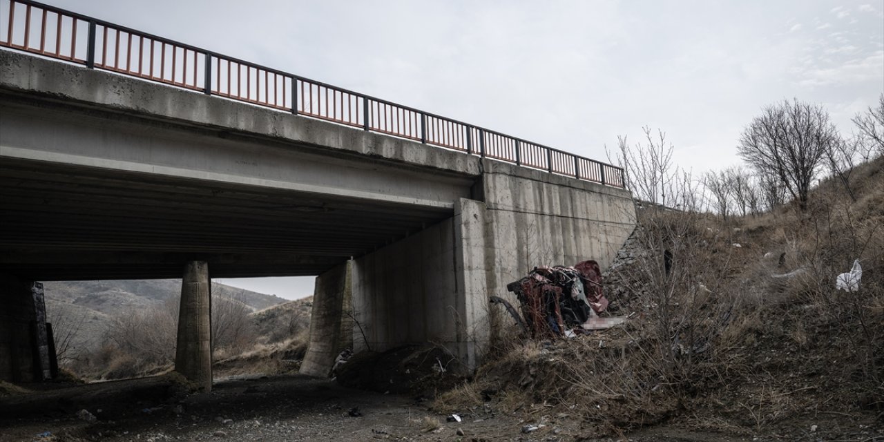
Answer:
<path fill-rule="evenodd" d="M 181 280 L 175 371 L 203 392 L 211 391 L 211 284 L 209 264 L 203 261 L 187 263 Z"/>

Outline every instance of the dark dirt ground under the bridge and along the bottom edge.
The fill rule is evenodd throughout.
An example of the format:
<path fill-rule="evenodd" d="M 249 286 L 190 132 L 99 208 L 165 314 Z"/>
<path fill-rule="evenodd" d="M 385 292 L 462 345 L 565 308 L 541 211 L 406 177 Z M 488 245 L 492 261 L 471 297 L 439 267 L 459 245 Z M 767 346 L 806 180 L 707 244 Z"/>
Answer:
<path fill-rule="evenodd" d="M 521 415 L 485 408 L 461 415 L 462 422 L 456 423 L 446 422 L 448 416 L 435 414 L 428 406 L 425 398 L 353 390 L 297 375 L 231 378 L 217 382 L 210 393 L 189 395 L 168 377 L 150 377 L 0 398 L 0 441 L 782 439 L 775 432 L 736 437 L 691 431 L 675 423 L 621 438 L 589 439 L 582 437 L 580 422 L 565 415 L 543 415 L 542 408 Z M 94 415 L 95 422 L 79 417 L 82 409 Z M 539 428 L 526 432 L 530 426 Z M 876 440 L 870 429 L 854 426 L 853 437 L 846 440 Z M 787 439 L 824 439 L 813 436 L 792 433 Z"/>

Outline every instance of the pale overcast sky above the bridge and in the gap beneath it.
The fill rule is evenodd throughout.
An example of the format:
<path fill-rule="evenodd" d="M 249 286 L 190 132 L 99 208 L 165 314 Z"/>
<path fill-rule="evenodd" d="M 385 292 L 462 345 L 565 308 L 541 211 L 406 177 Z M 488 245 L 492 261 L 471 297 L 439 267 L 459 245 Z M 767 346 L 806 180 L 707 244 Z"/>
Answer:
<path fill-rule="evenodd" d="M 850 133 L 884 92 L 882 0 L 46 1 L 578 155 L 659 128 L 695 175 L 737 164 L 767 104 L 822 104 Z"/>

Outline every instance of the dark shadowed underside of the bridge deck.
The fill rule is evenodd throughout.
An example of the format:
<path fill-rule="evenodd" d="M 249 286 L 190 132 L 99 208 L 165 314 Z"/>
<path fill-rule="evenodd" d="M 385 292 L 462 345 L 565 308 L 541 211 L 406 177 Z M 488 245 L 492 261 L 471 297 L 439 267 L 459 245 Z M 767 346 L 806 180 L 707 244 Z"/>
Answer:
<path fill-rule="evenodd" d="M 34 280 L 318 275 L 451 210 L 0 157 L 0 267 Z"/>

